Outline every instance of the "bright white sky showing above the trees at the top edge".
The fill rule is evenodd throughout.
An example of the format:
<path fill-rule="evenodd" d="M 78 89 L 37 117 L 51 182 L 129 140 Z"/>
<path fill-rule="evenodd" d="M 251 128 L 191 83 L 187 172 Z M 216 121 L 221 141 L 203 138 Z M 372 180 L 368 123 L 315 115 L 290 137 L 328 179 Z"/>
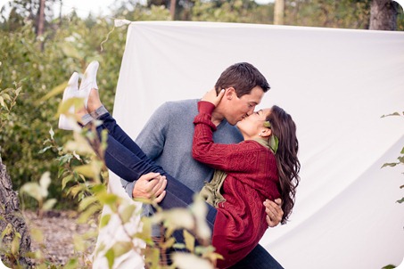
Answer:
<path fill-rule="evenodd" d="M 0 8 L 4 6 L 4 4 L 11 2 L 9 0 L 0 0 Z M 78 16 L 81 18 L 87 17 L 89 12 L 93 12 L 95 15 L 109 15 L 110 10 L 109 7 L 111 4 L 116 4 L 119 1 L 116 0 L 63 0 L 62 13 L 69 13 L 74 8 L 76 8 L 76 12 Z M 139 1 L 141 2 L 141 1 Z M 268 4 L 269 2 L 274 2 L 274 0 L 256 0 L 259 4 Z M 55 7 L 56 13 L 59 12 L 60 5 Z"/>

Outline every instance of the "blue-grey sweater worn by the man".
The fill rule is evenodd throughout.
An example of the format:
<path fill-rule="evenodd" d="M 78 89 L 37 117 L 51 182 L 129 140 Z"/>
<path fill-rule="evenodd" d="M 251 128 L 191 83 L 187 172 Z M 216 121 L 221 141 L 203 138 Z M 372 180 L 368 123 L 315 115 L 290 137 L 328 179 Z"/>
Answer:
<path fill-rule="evenodd" d="M 169 175 L 200 192 L 204 182 L 210 182 L 213 169 L 192 157 L 194 117 L 198 114 L 198 101 L 165 102 L 158 108 L 137 136 L 136 143 L 144 153 Z M 235 126 L 223 120 L 213 134 L 215 143 L 239 143 L 243 136 Z M 135 183 L 121 179 L 132 197 Z"/>

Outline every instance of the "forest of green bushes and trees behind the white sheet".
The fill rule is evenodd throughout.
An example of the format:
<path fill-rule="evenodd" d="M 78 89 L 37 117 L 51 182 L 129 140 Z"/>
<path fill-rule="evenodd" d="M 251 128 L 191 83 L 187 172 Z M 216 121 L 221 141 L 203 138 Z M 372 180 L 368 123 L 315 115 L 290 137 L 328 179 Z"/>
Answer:
<path fill-rule="evenodd" d="M 72 140 L 57 128 L 61 89 L 70 74 L 83 73 L 90 61 L 100 61 L 98 86 L 103 102 L 113 108 L 127 28 L 114 19 L 194 20 L 283 24 L 340 29 L 383 29 L 372 25 L 372 12 L 389 6 L 393 20 L 384 30 L 404 30 L 402 7 L 389 0 L 296 0 L 257 4 L 251 0 L 120 1 L 109 15 L 63 14 L 62 0 L 15 0 L 0 10 L 0 163 L 7 166 L 15 191 L 25 183 L 51 179 L 47 199 L 66 210 L 78 206 L 69 195 L 64 164 L 79 163 L 58 147 Z M 279 7 L 281 6 L 281 8 Z M 169 72 L 169 70 L 167 70 Z M 55 90 L 59 94 L 49 93 Z M 47 96 L 47 97 L 46 97 Z M 70 192 L 71 194 L 71 192 Z M 38 200 L 25 197 L 23 208 L 37 209 Z"/>

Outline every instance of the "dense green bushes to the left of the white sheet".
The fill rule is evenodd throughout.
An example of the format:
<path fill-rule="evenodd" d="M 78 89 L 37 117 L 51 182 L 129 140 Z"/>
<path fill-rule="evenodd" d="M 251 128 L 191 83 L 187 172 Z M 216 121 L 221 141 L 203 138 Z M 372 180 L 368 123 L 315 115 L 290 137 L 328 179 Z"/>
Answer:
<path fill-rule="evenodd" d="M 45 171 L 50 171 L 52 178 L 57 177 L 54 154 L 58 151 L 43 151 L 43 143 L 50 128 L 55 130 L 56 143 L 70 137 L 56 127 L 58 119 L 54 115 L 62 100 L 62 85 L 73 71 L 83 73 L 89 61 L 100 61 L 103 68 L 99 70 L 98 86 L 103 91 L 105 105 L 112 108 L 113 104 L 126 29 L 115 29 L 101 49 L 103 38 L 112 29 L 111 22 L 72 16 L 55 23 L 57 29 L 46 32 L 42 38 L 36 37 L 29 21 L 12 32 L 0 33 L 0 48 L 4 52 L 0 60 L 0 88 L 4 88 L 0 94 L 0 153 L 16 189 L 36 181 Z M 15 87 L 7 87 L 11 85 Z M 43 97 L 58 86 L 60 91 L 54 98 L 44 102 Z M 18 110 L 5 113 L 14 105 Z M 62 183 L 53 181 L 50 196 L 60 197 L 61 191 Z M 59 200 L 57 207 L 69 204 L 69 200 Z"/>

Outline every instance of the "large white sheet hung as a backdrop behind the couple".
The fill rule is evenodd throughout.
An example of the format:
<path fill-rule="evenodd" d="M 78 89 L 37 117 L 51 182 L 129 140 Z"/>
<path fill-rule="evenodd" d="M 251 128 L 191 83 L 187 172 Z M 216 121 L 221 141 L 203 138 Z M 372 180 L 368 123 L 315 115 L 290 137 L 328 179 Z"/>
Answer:
<path fill-rule="evenodd" d="M 136 137 L 162 102 L 197 98 L 249 61 L 298 126 L 301 185 L 289 224 L 261 244 L 285 268 L 381 268 L 404 257 L 404 33 L 209 22 L 134 22 L 114 117 Z M 101 67 L 103 68 L 103 67 Z M 111 176 L 111 192 L 120 192 Z M 110 232 L 107 232 L 111 229 Z M 99 241 L 120 232 L 110 225 Z M 111 236 L 112 235 L 112 236 Z M 132 255 L 130 267 L 142 267 Z M 95 268 L 103 262 L 95 260 Z M 117 265 L 120 268 L 129 268 Z"/>

